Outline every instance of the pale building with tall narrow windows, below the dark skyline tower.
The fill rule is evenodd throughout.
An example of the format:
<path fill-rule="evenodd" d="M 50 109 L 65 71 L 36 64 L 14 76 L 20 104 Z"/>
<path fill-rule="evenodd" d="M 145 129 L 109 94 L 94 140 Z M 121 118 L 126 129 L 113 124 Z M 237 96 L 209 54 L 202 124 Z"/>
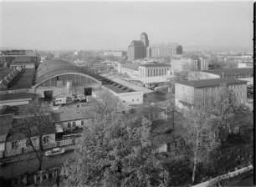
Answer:
<path fill-rule="evenodd" d="M 166 63 L 147 63 L 139 66 L 139 78 L 166 76 L 170 65 Z"/>

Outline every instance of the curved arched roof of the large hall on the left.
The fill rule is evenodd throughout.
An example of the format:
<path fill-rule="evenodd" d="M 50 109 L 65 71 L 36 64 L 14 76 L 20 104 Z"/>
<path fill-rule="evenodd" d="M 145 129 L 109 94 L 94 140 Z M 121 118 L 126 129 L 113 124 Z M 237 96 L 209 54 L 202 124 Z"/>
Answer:
<path fill-rule="evenodd" d="M 39 84 L 44 81 L 54 78 L 61 74 L 79 74 L 84 77 L 94 79 L 97 83 L 101 83 L 99 79 L 90 76 L 84 69 L 74 66 L 73 64 L 64 60 L 47 60 L 44 63 L 40 63 L 38 71 L 34 80 L 34 87 L 38 87 Z"/>

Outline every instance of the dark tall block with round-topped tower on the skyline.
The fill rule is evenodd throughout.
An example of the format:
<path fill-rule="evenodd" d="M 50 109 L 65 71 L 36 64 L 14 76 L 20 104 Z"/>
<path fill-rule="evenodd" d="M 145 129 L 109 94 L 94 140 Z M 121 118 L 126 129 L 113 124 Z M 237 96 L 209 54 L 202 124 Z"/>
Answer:
<path fill-rule="evenodd" d="M 146 48 L 149 46 L 149 40 L 146 33 L 141 33 L 140 40 L 133 40 L 128 46 L 128 59 L 146 58 Z"/>

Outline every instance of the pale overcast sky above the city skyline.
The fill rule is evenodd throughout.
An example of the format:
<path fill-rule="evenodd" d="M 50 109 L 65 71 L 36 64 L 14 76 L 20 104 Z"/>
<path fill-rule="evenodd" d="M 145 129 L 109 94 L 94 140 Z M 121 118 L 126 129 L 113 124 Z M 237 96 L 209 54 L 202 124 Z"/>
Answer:
<path fill-rule="evenodd" d="M 0 47 L 126 49 L 253 45 L 253 2 L 0 2 Z"/>

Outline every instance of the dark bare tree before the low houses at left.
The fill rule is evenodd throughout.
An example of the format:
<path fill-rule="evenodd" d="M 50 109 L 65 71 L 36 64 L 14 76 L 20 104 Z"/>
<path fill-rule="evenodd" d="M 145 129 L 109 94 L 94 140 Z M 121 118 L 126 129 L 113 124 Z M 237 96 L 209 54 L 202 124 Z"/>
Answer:
<path fill-rule="evenodd" d="M 51 120 L 49 109 L 42 108 L 38 99 L 34 99 L 23 110 L 22 118 L 13 124 L 14 133 L 21 133 L 28 141 L 28 148 L 32 148 L 39 162 L 38 169 L 42 169 L 44 159 L 44 142 L 49 141 L 50 137 L 44 139 L 44 135 L 54 133 L 54 125 Z"/>

